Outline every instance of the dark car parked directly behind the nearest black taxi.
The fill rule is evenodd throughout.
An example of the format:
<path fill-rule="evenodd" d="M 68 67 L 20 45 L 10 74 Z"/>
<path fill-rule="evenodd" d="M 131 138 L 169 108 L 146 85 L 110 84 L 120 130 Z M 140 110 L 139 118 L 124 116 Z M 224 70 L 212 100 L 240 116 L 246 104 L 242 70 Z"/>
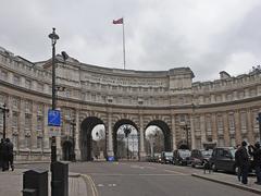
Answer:
<path fill-rule="evenodd" d="M 191 167 L 195 168 L 196 166 L 203 166 L 204 162 L 209 161 L 213 150 L 212 149 L 194 149 L 191 151 L 191 156 L 189 158 L 189 162 Z"/>

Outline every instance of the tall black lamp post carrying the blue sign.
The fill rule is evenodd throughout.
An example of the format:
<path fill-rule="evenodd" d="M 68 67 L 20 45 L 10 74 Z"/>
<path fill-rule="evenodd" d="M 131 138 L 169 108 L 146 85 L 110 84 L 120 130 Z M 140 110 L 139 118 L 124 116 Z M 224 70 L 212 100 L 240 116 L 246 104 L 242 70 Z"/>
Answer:
<path fill-rule="evenodd" d="M 55 44 L 59 36 L 55 34 L 55 28 L 52 28 L 52 33 L 49 34 L 52 45 L 52 110 L 57 108 L 57 88 L 55 88 Z M 57 161 L 57 142 L 55 136 L 51 138 L 51 162 Z"/>

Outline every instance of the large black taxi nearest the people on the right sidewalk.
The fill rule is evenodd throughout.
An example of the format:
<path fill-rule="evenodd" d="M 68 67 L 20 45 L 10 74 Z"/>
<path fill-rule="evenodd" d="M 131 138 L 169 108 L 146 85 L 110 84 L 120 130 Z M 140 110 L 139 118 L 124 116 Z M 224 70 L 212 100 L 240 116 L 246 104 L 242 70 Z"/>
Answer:
<path fill-rule="evenodd" d="M 235 161 L 236 149 L 234 147 L 216 147 L 210 158 L 210 166 L 213 171 L 223 170 L 236 173 L 237 167 Z"/>

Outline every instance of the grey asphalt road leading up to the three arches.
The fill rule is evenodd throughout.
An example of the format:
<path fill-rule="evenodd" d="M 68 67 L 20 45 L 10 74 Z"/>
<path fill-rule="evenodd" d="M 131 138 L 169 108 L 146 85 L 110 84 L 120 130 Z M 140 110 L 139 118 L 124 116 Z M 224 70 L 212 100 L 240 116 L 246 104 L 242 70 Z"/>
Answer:
<path fill-rule="evenodd" d="M 190 167 L 148 162 L 78 162 L 71 163 L 70 171 L 91 179 L 99 196 L 258 196 L 194 177 L 191 173 L 196 169 Z"/>

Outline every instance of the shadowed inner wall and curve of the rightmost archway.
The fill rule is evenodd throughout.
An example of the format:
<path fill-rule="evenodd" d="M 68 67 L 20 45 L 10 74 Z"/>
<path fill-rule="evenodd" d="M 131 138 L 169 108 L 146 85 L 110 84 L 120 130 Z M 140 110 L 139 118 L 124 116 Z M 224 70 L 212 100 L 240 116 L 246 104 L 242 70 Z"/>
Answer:
<path fill-rule="evenodd" d="M 164 121 L 153 120 L 153 121 L 149 122 L 149 124 L 146 126 L 145 130 L 147 130 L 147 127 L 149 127 L 151 125 L 156 125 L 161 128 L 161 131 L 163 132 L 163 135 L 164 135 L 164 150 L 172 151 L 172 137 L 171 137 L 172 134 L 171 134 L 171 130 L 170 130 L 169 125 Z"/>

